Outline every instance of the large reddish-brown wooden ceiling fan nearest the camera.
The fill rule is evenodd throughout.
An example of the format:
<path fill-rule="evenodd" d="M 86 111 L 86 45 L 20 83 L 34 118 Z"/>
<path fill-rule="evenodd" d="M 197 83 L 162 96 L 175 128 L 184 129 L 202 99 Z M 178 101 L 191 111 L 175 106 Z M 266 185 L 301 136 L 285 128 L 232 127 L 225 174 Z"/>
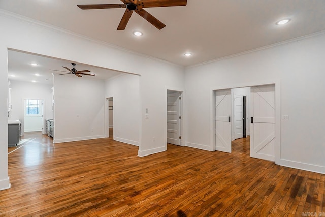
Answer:
<path fill-rule="evenodd" d="M 145 20 L 155 26 L 157 29 L 162 29 L 166 25 L 160 22 L 157 18 L 149 14 L 144 8 L 153 7 L 169 7 L 169 6 L 185 6 L 187 0 L 121 0 L 124 4 L 96 4 L 96 5 L 77 5 L 83 10 L 87 9 L 107 9 L 107 8 L 126 8 L 124 15 L 117 27 L 117 30 L 124 30 L 132 13 L 135 11 Z"/>

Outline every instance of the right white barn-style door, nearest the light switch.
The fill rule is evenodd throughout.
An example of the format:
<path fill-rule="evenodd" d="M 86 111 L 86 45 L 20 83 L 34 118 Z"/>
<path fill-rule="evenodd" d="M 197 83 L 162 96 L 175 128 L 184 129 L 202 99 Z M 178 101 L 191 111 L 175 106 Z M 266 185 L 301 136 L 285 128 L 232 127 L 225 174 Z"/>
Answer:
<path fill-rule="evenodd" d="M 250 156 L 275 161 L 275 85 L 251 87 Z"/>

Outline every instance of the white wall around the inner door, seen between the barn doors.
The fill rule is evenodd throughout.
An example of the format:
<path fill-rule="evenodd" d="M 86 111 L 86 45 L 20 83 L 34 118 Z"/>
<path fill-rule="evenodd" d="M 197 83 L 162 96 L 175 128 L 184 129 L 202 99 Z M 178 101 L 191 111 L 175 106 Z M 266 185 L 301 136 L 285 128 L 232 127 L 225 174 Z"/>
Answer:
<path fill-rule="evenodd" d="M 232 140 L 235 139 L 235 117 L 234 117 L 234 95 L 242 95 L 246 96 L 246 113 L 248 114 L 248 118 L 250 117 L 249 115 L 249 105 L 250 105 L 250 87 L 242 87 L 242 88 L 234 88 L 231 89 L 232 92 L 232 102 L 233 102 L 233 109 L 232 109 L 232 114 L 233 114 L 233 120 L 232 120 Z M 246 120 L 245 120 L 246 121 Z M 247 128 L 247 135 L 250 135 L 250 120 L 246 121 L 246 128 Z"/>

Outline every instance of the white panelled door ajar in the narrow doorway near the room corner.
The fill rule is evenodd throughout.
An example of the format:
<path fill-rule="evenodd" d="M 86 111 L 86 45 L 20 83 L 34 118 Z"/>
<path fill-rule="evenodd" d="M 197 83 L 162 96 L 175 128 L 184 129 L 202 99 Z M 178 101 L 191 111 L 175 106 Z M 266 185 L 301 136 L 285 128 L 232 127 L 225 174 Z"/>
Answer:
<path fill-rule="evenodd" d="M 167 94 L 167 143 L 180 145 L 180 92 Z"/>

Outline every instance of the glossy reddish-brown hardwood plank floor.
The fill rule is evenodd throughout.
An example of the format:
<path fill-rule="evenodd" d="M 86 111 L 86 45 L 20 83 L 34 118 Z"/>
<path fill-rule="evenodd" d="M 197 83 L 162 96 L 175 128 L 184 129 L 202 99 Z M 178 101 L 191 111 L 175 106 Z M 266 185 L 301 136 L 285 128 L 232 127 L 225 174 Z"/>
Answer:
<path fill-rule="evenodd" d="M 250 158 L 248 139 L 231 154 L 168 145 L 140 158 L 110 138 L 28 137 L 9 154 L 0 216 L 325 215 L 325 175 Z"/>

